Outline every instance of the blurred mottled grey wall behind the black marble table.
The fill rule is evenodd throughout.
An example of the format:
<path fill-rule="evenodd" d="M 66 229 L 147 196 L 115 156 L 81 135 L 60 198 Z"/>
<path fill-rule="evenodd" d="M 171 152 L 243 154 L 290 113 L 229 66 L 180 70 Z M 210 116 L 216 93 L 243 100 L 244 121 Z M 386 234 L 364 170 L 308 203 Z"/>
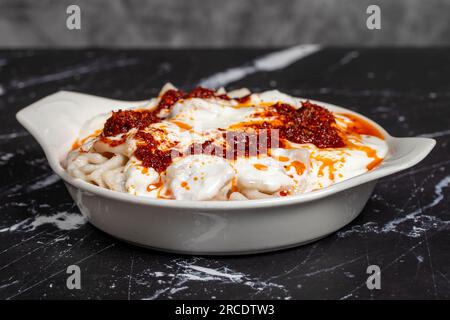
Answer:
<path fill-rule="evenodd" d="M 68 30 L 66 9 L 81 9 Z M 369 5 L 381 30 L 366 27 Z M 449 0 L 0 0 L 0 47 L 440 46 Z"/>

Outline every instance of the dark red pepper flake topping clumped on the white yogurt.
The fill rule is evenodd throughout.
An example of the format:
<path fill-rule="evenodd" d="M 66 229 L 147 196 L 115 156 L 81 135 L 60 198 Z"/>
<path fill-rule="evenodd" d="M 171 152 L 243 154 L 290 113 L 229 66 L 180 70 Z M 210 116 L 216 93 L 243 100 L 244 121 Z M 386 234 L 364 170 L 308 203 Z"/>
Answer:
<path fill-rule="evenodd" d="M 158 106 L 153 111 L 148 110 L 119 110 L 113 112 L 106 121 L 102 132 L 102 140 L 110 144 L 118 145 L 125 140 L 109 140 L 106 137 L 126 133 L 132 128 L 138 129 L 138 140 L 135 156 L 142 161 L 144 167 L 152 167 L 158 172 L 163 172 L 172 163 L 172 152 L 162 151 L 158 148 L 159 142 L 151 133 L 142 131 L 150 124 L 159 122 L 157 116 L 160 110 L 170 109 L 177 101 L 187 98 L 219 98 L 230 100 L 226 94 L 217 95 L 215 91 L 197 87 L 189 93 L 180 90 L 168 90 L 160 98 Z M 249 101 L 250 95 L 236 98 L 239 103 Z M 302 103 L 302 108 L 277 103 L 267 112 L 267 115 L 277 118 L 276 123 L 262 122 L 250 124 L 253 132 L 229 131 L 224 132 L 226 146 L 217 146 L 211 141 L 202 144 L 192 144 L 188 152 L 191 154 L 211 154 L 227 159 L 236 159 L 238 156 L 257 156 L 266 154 L 270 148 L 282 147 L 277 135 L 272 135 L 271 130 L 279 130 L 279 138 L 295 143 L 312 143 L 319 148 L 343 147 L 343 139 L 339 135 L 336 121 L 331 112 L 309 101 Z M 273 140 L 275 138 L 275 140 Z"/>

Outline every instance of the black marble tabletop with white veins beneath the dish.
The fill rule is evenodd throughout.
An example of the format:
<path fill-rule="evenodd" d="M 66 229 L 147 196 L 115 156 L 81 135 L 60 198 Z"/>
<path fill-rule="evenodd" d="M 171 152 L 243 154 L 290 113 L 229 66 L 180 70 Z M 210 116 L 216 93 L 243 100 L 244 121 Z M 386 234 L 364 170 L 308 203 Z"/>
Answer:
<path fill-rule="evenodd" d="M 450 298 L 450 49 L 323 49 L 229 84 L 277 87 L 347 106 L 396 136 L 437 140 L 419 165 L 381 179 L 350 225 L 275 253 L 178 256 L 108 236 L 85 223 L 15 120 L 61 89 L 145 99 L 166 81 L 187 89 L 267 52 L 0 51 L 0 298 Z M 71 264 L 81 290 L 66 287 Z M 371 264 L 380 290 L 366 287 Z"/>

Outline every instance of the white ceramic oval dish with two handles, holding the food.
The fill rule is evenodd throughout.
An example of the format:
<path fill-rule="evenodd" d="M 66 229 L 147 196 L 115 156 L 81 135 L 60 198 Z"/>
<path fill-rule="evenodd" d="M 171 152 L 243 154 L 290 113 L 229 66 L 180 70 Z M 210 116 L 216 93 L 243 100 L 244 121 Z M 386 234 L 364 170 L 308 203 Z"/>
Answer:
<path fill-rule="evenodd" d="M 188 254 L 247 254 L 277 250 L 324 237 L 348 224 L 364 208 L 377 179 L 410 168 L 434 147 L 426 138 L 386 137 L 389 154 L 372 171 L 318 191 L 262 200 L 157 200 L 100 188 L 70 177 L 61 166 L 80 127 L 90 118 L 142 104 L 61 91 L 17 113 L 44 149 L 80 211 L 97 228 L 128 242 Z"/>

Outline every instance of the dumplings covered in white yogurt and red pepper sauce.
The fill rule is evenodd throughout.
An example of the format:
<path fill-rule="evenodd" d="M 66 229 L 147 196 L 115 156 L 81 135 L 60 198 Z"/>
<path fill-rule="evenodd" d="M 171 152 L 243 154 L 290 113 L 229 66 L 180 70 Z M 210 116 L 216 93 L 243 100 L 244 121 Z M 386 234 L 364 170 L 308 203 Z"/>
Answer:
<path fill-rule="evenodd" d="M 277 90 L 170 84 L 158 97 L 88 121 L 65 159 L 70 176 L 176 200 L 285 197 L 376 168 L 388 145 L 365 119 Z"/>

